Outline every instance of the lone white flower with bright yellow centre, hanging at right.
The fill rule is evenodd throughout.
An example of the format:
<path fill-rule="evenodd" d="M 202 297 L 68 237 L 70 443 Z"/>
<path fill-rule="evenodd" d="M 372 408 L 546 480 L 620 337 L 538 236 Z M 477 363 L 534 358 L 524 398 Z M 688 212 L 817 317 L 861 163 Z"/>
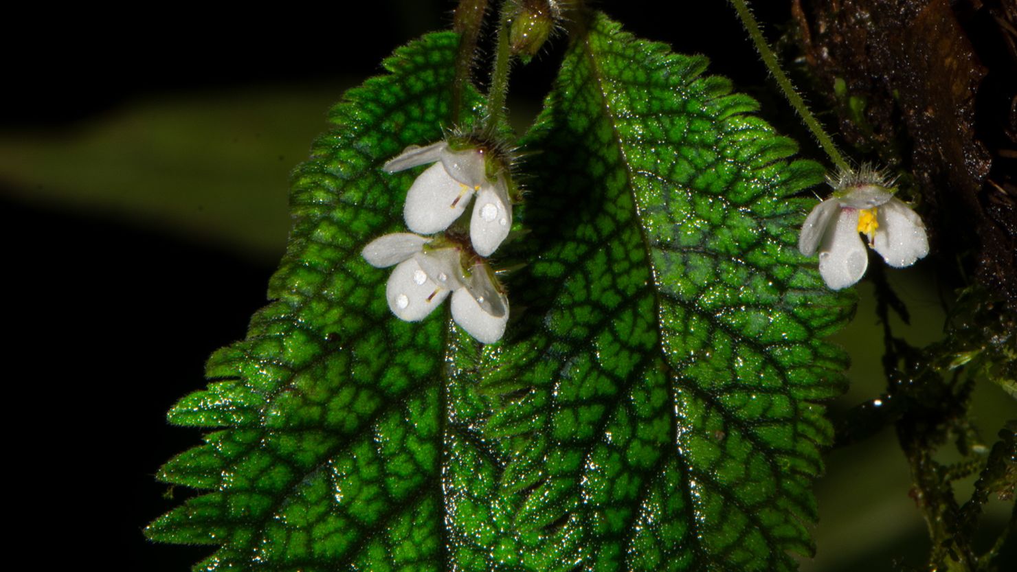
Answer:
<path fill-rule="evenodd" d="M 929 239 L 921 218 L 881 185 L 861 184 L 835 192 L 813 208 L 801 226 L 798 250 L 820 253 L 820 275 L 832 290 L 861 279 L 869 255 L 858 233 L 887 264 L 910 266 L 929 254 Z"/>

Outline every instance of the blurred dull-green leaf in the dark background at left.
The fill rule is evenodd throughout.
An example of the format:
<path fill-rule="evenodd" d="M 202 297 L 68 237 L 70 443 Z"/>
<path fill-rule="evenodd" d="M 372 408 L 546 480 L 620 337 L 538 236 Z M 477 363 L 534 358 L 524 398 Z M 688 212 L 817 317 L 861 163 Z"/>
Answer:
<path fill-rule="evenodd" d="M 337 84 L 246 86 L 127 104 L 69 126 L 0 133 L 19 200 L 123 217 L 278 260 L 290 170 Z"/>

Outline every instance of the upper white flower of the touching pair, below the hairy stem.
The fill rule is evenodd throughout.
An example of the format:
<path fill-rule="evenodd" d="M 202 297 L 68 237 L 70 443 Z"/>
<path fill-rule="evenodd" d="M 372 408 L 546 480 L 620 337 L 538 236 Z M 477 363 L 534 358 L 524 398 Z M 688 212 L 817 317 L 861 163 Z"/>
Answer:
<path fill-rule="evenodd" d="M 433 163 L 417 177 L 406 194 L 403 216 L 414 233 L 433 235 L 456 221 L 473 195 L 470 241 L 481 256 L 490 256 L 512 229 L 512 201 L 502 174 L 487 178 L 487 160 L 481 148 L 453 150 L 439 141 L 425 147 L 411 145 L 384 164 L 387 173 Z"/>

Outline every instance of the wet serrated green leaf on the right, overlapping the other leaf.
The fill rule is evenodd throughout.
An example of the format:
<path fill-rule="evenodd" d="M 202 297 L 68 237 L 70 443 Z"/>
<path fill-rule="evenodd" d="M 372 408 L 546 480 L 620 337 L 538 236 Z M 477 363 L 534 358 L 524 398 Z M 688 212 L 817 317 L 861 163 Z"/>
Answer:
<path fill-rule="evenodd" d="M 823 170 L 705 58 L 603 15 L 577 36 L 524 141 L 527 309 L 484 368 L 528 564 L 793 569 L 852 308 L 795 248 Z"/>

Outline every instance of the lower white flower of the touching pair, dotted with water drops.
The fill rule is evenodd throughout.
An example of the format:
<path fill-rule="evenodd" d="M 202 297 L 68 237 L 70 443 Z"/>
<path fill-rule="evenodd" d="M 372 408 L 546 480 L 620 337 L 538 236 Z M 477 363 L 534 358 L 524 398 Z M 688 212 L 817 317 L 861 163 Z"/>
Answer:
<path fill-rule="evenodd" d="M 486 264 L 464 272 L 459 248 L 425 248 L 431 240 L 410 233 L 384 235 L 361 254 L 368 264 L 396 265 L 385 284 L 388 308 L 398 318 L 418 322 L 452 294 L 452 317 L 470 335 L 494 343 L 508 322 L 508 300 L 494 285 Z"/>

